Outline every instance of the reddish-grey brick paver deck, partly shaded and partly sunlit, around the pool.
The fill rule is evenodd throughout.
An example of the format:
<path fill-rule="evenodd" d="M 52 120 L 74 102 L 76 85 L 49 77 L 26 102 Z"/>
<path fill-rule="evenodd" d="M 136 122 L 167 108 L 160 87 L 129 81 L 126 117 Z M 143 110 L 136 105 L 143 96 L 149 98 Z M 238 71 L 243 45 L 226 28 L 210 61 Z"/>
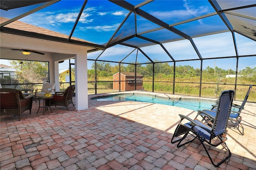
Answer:
<path fill-rule="evenodd" d="M 83 111 L 57 106 L 53 113 L 43 115 L 40 110 L 36 115 L 34 102 L 32 115 L 26 111 L 20 121 L 1 116 L 0 169 L 217 169 L 199 141 L 180 148 L 170 142 L 178 114 L 194 118 L 195 111 L 153 103 L 92 101 L 93 96 L 97 95 L 89 95 L 89 108 Z M 256 104 L 246 103 L 241 115 L 244 136 L 228 128 L 226 143 L 232 156 L 218 169 L 256 169 Z M 216 158 L 225 154 L 222 147 L 211 147 L 210 152 Z"/>

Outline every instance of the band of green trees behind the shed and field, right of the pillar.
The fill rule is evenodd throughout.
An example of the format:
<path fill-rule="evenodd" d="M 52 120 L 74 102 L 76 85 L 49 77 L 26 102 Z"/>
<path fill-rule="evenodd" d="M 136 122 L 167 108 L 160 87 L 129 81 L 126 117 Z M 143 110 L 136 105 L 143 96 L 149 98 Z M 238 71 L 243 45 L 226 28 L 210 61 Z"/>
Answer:
<path fill-rule="evenodd" d="M 120 64 L 121 72 L 135 72 L 135 65 Z M 96 63 L 96 73 L 97 77 L 112 77 L 115 73 L 119 72 L 118 64 L 111 65 L 109 62 L 100 61 Z M 142 74 L 144 77 L 153 76 L 153 64 L 146 64 L 142 66 L 137 63 L 136 72 Z M 155 77 L 166 77 L 171 78 L 174 74 L 174 66 L 169 65 L 168 63 L 155 63 L 154 65 L 154 76 Z M 186 77 L 200 77 L 200 69 L 190 66 L 190 65 L 178 65 L 175 69 L 176 77 L 186 78 Z M 235 75 L 236 71 L 232 69 L 222 69 L 219 67 L 206 67 L 202 70 L 202 74 L 207 78 L 214 78 L 216 75 L 220 77 L 226 77 L 226 75 Z M 238 75 L 243 75 L 246 78 L 251 78 L 252 80 L 256 78 L 256 67 L 250 68 L 246 67 L 245 69 L 239 70 Z M 88 79 L 95 78 L 95 65 L 92 64 L 91 69 L 88 69 Z"/>

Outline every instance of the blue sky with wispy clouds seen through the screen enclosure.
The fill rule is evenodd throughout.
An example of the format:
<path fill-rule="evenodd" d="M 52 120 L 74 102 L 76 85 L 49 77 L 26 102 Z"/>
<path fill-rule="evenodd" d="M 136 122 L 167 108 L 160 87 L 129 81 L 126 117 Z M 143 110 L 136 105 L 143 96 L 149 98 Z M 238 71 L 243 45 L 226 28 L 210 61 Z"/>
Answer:
<path fill-rule="evenodd" d="M 128 0 L 127 2 L 133 5 L 137 5 L 143 1 Z M 69 35 L 83 3 L 83 0 L 62 0 L 38 12 L 30 14 L 20 19 L 20 21 Z M 36 6 L 40 5 L 8 10 L 7 12 L 1 10 L 1 16 L 6 18 L 13 18 L 35 8 Z M 141 9 L 145 12 L 148 12 L 152 16 L 155 16 L 160 20 L 166 22 L 167 24 L 175 24 L 183 20 L 188 20 L 214 12 L 214 9 L 207 0 L 155 0 L 141 7 Z M 76 26 L 76 30 L 74 31 L 73 36 L 98 44 L 106 43 L 110 40 L 110 38 L 112 37 L 118 26 L 120 26 L 120 23 L 122 23 L 127 14 L 128 10 L 125 10 L 124 8 L 121 8 L 120 6 L 117 6 L 116 4 L 107 0 L 88 0 L 83 14 L 78 22 L 78 25 Z M 128 18 L 127 22 L 124 24 L 122 29 L 120 29 L 120 32 L 118 32 L 117 35 L 122 36 L 124 34 L 133 33 L 135 32 L 134 28 L 134 17 L 131 16 Z M 143 32 L 153 28 L 159 28 L 159 26 L 145 20 L 140 16 L 137 16 L 138 32 Z M 199 31 L 207 33 L 212 30 L 227 30 L 226 26 L 223 24 L 220 18 L 218 18 L 218 16 L 212 16 L 210 18 L 204 18 L 201 20 L 188 22 L 186 24 L 174 26 L 174 28 L 177 28 L 190 36 L 198 34 Z M 162 32 L 162 36 L 157 37 L 158 40 L 165 40 L 167 35 L 166 30 L 160 31 Z M 145 34 L 143 36 L 148 38 L 156 38 L 154 34 Z M 256 54 L 255 41 L 249 40 L 248 38 L 245 38 L 244 36 L 241 36 L 239 34 L 235 34 L 235 36 L 238 43 L 238 51 L 240 55 Z M 198 47 L 198 50 L 203 58 L 226 57 L 235 55 L 234 44 L 230 32 L 214 34 L 212 36 L 193 38 L 193 41 Z M 166 47 L 166 49 L 168 49 L 168 51 L 170 51 L 170 54 L 172 55 L 172 57 L 174 57 L 174 59 L 179 60 L 186 58 L 198 58 L 194 51 L 194 48 L 188 40 L 164 43 L 163 45 L 164 47 Z M 131 47 L 117 45 L 107 49 L 103 53 L 103 55 L 99 57 L 99 59 L 120 61 L 132 50 L 133 48 Z M 168 55 L 166 55 L 160 45 L 142 47 L 142 50 L 153 60 L 169 60 Z M 100 52 L 101 51 L 89 53 L 88 58 L 95 59 L 96 57 L 98 57 Z M 136 51 L 134 51 L 134 53 L 132 53 L 124 61 L 135 61 L 134 59 L 136 57 Z M 144 55 L 139 54 L 139 56 L 140 58 L 137 61 L 139 61 L 140 63 L 148 61 L 148 59 L 144 57 Z M 243 63 L 241 64 L 248 65 L 249 67 L 256 67 L 256 59 L 254 60 L 254 58 L 251 58 L 249 60 L 243 61 Z M 193 64 L 194 62 L 187 63 L 192 65 L 193 67 L 198 67 L 198 62 L 196 62 L 196 64 Z M 205 63 L 207 62 L 205 61 Z M 208 61 L 208 63 L 210 65 L 212 62 Z M 90 65 L 88 66 L 90 67 Z M 61 67 L 68 66 L 65 65 Z M 222 66 L 220 67 L 226 67 L 225 63 L 222 63 Z"/>

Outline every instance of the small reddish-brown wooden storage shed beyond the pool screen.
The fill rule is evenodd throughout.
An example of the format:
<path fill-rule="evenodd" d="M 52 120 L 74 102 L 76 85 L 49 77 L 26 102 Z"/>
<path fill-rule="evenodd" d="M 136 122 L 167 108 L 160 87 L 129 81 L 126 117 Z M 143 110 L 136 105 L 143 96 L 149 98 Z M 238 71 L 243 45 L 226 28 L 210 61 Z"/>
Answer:
<path fill-rule="evenodd" d="M 143 75 L 136 73 L 136 90 L 143 89 Z M 121 91 L 135 90 L 135 73 L 121 72 L 120 74 Z M 113 90 L 119 90 L 119 72 L 113 75 Z"/>

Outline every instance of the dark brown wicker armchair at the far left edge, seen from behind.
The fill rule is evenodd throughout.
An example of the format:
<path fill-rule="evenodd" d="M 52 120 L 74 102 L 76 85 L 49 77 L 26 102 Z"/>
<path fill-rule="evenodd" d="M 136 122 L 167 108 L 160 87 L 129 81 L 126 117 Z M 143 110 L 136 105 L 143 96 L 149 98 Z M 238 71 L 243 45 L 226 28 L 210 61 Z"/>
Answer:
<path fill-rule="evenodd" d="M 14 115 L 19 117 L 29 110 L 31 115 L 33 96 L 24 97 L 17 89 L 0 89 L 0 115 Z"/>

